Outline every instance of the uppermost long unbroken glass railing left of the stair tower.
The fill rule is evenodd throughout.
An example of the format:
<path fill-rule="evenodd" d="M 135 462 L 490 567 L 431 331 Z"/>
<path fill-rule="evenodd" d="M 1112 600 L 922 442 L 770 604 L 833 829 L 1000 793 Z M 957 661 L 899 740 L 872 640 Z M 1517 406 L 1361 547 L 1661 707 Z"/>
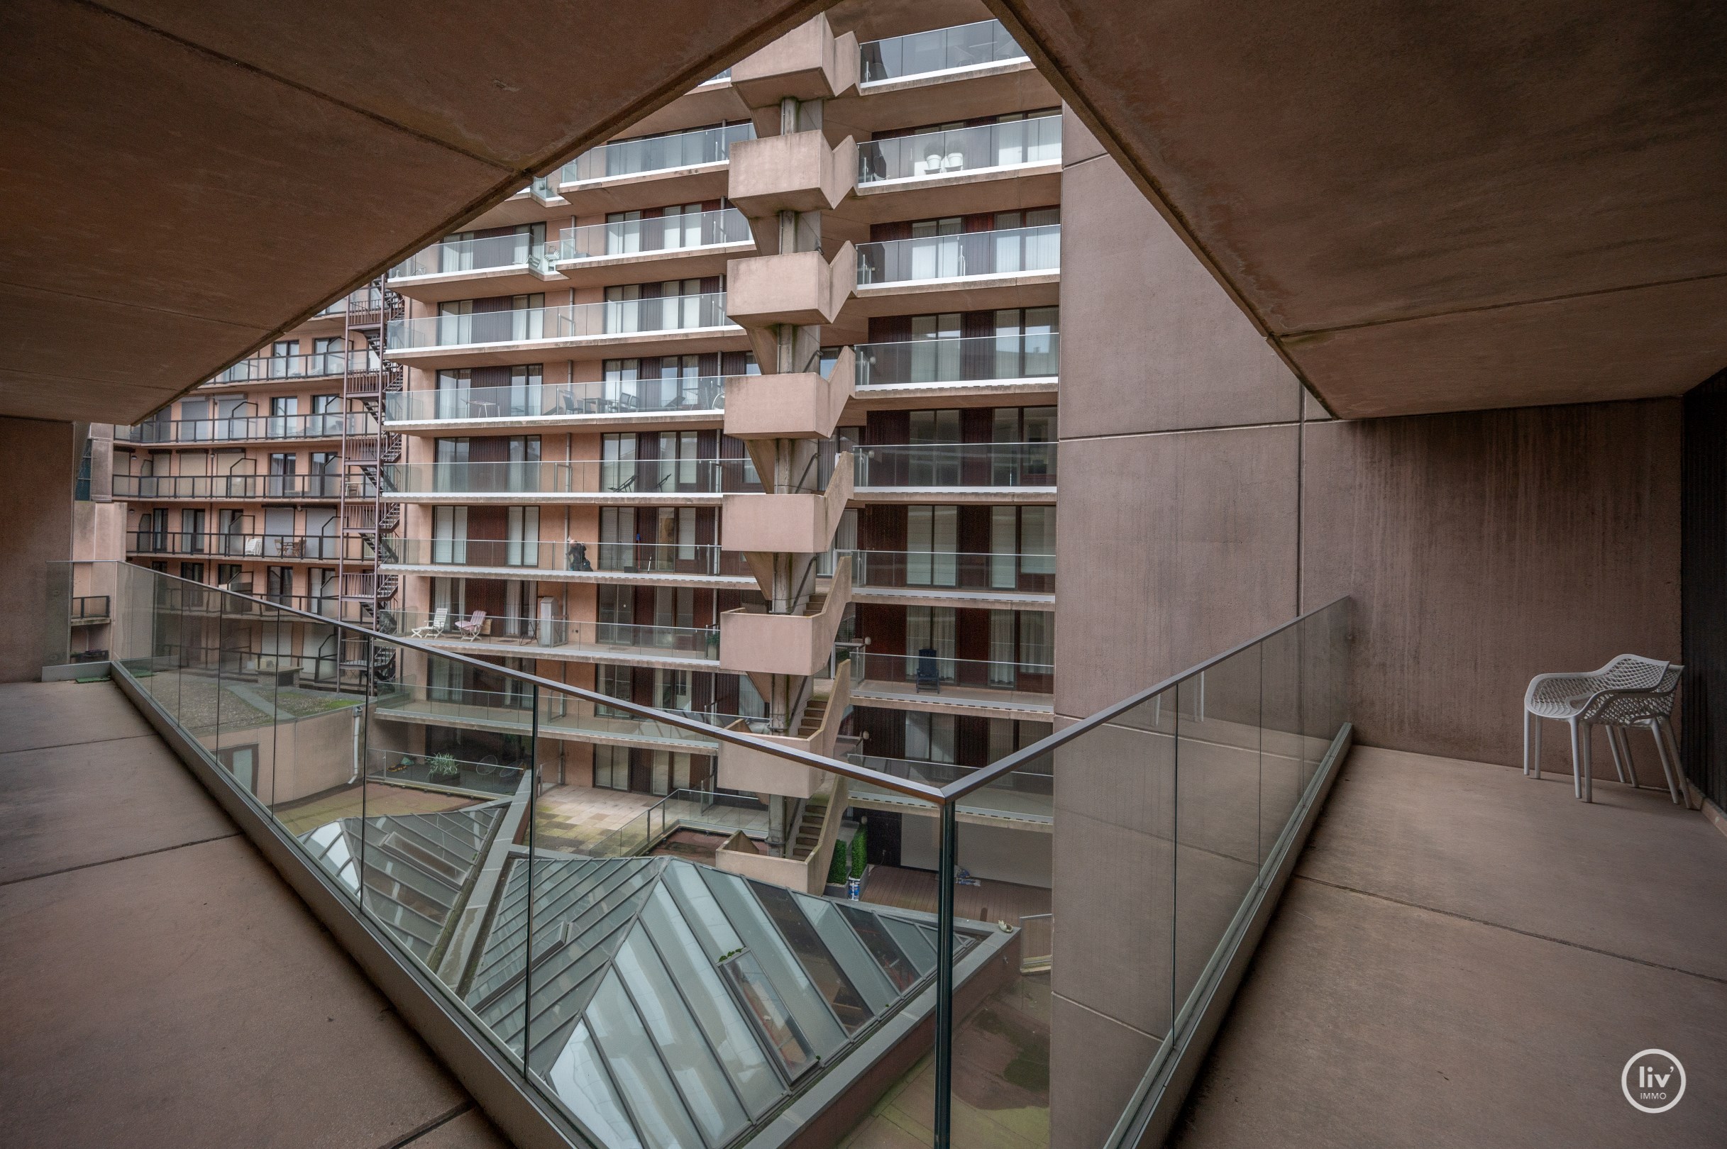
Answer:
<path fill-rule="evenodd" d="M 463 347 L 470 343 L 532 343 L 599 335 L 689 331 L 694 328 L 741 330 L 725 317 L 725 292 L 627 298 L 565 307 L 522 307 L 470 316 L 425 316 L 390 319 L 390 348 Z"/>

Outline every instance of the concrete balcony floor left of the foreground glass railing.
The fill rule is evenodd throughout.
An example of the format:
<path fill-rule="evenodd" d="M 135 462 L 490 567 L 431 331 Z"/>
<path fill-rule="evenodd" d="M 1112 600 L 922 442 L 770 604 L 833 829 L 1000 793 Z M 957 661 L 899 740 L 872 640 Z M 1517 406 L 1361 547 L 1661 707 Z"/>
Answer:
<path fill-rule="evenodd" d="M 503 1149 L 111 683 L 0 685 L 7 1146 Z"/>

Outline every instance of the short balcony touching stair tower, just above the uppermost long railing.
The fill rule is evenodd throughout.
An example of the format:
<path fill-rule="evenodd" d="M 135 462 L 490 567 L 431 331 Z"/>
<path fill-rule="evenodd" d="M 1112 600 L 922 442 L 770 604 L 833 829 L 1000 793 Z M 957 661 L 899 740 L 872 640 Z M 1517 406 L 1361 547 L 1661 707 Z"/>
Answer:
<path fill-rule="evenodd" d="M 565 228 L 546 245 L 544 259 L 570 286 L 604 286 L 644 276 L 717 276 L 725 261 L 753 250 L 750 221 L 736 207 L 722 207 Z"/>

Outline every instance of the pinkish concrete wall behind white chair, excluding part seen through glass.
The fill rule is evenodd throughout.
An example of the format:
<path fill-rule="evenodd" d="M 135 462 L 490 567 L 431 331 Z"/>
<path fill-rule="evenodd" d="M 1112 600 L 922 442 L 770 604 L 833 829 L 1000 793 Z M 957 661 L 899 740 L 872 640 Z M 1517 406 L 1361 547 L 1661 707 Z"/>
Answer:
<path fill-rule="evenodd" d="M 1532 675 L 1679 657 L 1677 400 L 1332 421 L 1064 131 L 1059 714 L 1344 593 L 1370 745 L 1513 764 Z"/>

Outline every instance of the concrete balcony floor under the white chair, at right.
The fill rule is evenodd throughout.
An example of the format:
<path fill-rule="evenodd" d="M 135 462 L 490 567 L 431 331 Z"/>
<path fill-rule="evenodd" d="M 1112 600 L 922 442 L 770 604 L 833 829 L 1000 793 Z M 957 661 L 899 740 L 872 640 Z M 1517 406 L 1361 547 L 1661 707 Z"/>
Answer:
<path fill-rule="evenodd" d="M 1687 1073 L 1656 1116 L 1618 1080 L 1648 1047 Z M 1727 1144 L 1727 837 L 1665 792 L 1356 749 L 1171 1144 Z"/>

